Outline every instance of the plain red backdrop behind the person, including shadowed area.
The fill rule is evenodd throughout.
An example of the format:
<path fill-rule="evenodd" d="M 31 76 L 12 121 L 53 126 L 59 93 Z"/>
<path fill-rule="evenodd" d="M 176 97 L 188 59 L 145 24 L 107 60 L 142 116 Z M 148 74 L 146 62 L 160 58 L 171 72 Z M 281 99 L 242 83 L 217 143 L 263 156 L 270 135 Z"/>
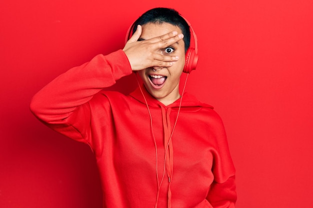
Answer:
<path fill-rule="evenodd" d="M 65 70 L 122 48 L 143 11 L 167 6 L 196 31 L 200 58 L 186 90 L 224 121 L 237 208 L 312 208 L 313 1 L 156 2 L 1 1 L 0 207 L 101 207 L 89 147 L 38 122 L 29 101 Z"/>

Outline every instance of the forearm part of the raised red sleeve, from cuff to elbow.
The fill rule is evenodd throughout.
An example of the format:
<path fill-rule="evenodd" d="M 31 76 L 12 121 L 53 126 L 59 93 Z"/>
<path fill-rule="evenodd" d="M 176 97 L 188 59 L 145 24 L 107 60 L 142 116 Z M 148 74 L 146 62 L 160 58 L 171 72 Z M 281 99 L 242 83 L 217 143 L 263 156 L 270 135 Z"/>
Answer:
<path fill-rule="evenodd" d="M 131 74 L 127 57 L 122 50 L 101 54 L 92 60 L 69 69 L 56 77 L 30 103 L 30 110 L 47 124 L 59 123 L 68 114 L 88 102 L 94 94 Z"/>

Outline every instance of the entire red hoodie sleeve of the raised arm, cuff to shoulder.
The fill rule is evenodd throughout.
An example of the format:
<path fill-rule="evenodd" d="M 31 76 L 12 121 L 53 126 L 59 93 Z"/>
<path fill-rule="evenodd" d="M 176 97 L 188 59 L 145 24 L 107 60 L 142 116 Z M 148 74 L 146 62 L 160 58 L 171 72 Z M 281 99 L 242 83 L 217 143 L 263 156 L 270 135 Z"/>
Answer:
<path fill-rule="evenodd" d="M 88 101 L 119 78 L 131 74 L 125 53 L 117 50 L 96 55 L 89 62 L 59 75 L 30 102 L 30 111 L 45 125 L 72 139 L 85 142 L 90 123 Z M 73 113 L 75 112 L 75 113 Z M 79 120 L 73 126 L 71 121 Z"/>

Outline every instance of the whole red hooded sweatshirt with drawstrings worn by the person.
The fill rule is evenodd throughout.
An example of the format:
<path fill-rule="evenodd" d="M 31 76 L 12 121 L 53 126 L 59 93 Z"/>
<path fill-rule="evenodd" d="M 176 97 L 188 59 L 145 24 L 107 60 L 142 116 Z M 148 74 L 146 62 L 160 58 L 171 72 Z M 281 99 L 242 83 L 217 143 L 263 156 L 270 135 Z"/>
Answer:
<path fill-rule="evenodd" d="M 220 117 L 187 93 L 178 111 L 180 99 L 164 106 L 144 87 L 127 96 L 103 90 L 131 73 L 122 50 L 97 55 L 41 89 L 30 109 L 90 146 L 104 208 L 234 208 L 235 171 Z"/>

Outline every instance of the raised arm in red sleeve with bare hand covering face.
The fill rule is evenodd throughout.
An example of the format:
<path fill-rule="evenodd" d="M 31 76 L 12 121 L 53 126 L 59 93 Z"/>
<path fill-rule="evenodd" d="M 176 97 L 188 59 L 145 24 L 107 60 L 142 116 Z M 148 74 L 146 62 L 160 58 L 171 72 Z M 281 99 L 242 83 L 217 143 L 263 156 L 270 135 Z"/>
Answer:
<path fill-rule="evenodd" d="M 50 128 L 84 141 L 91 117 L 88 101 L 95 94 L 113 85 L 122 76 L 129 75 L 132 70 L 170 66 L 178 59 L 177 56 L 164 56 L 158 52 L 160 48 L 182 38 L 177 32 L 137 41 L 140 34 L 141 27 L 138 27 L 123 50 L 106 56 L 99 54 L 55 78 L 33 96 L 30 103 L 32 113 Z"/>

